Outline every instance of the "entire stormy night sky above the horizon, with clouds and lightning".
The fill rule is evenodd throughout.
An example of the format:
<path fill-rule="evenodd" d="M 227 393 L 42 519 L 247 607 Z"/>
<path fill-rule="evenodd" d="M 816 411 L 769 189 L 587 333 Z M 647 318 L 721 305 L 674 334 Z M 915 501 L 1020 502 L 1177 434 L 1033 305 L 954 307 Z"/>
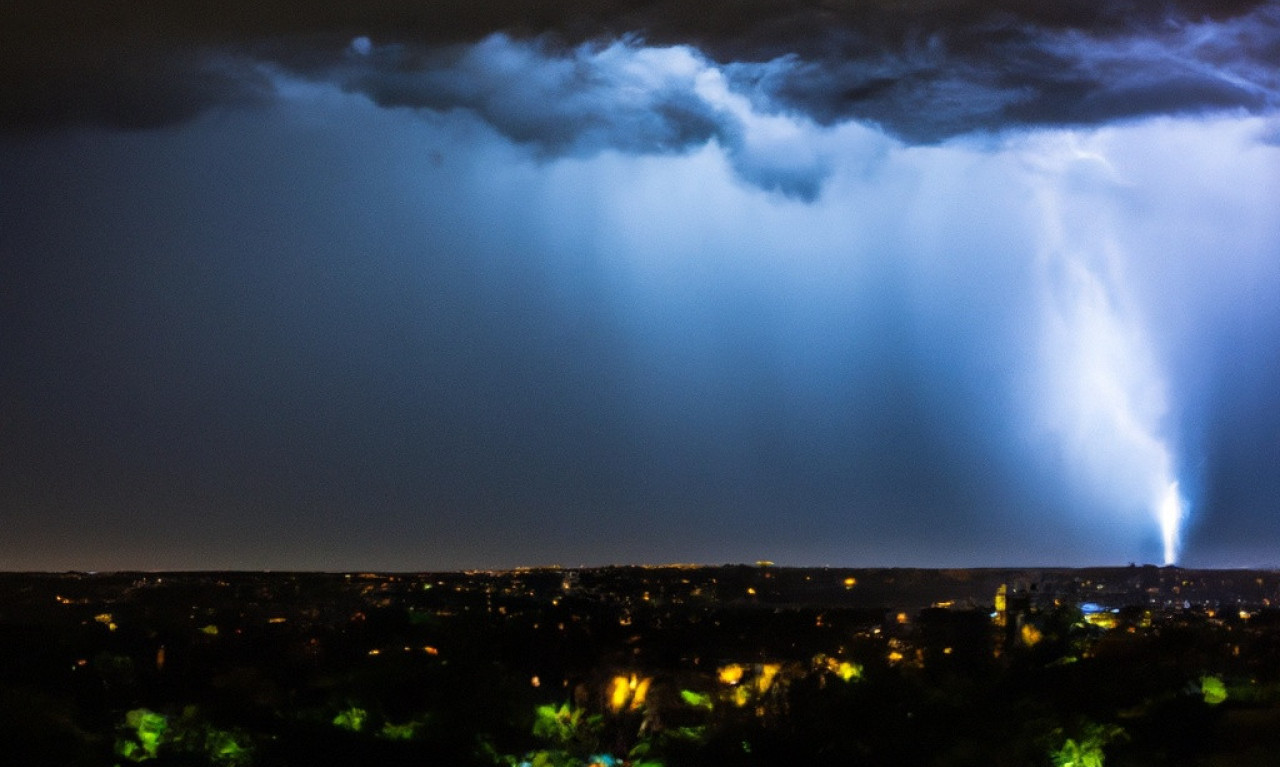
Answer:
<path fill-rule="evenodd" d="M 6 0 L 0 93 L 0 570 L 1280 566 L 1275 1 Z"/>

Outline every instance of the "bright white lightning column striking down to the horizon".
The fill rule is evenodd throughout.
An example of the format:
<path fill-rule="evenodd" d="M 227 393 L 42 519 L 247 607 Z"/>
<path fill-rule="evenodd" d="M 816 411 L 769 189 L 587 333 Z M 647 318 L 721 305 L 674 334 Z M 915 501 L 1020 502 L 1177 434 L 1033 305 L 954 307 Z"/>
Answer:
<path fill-rule="evenodd" d="M 1100 501 L 1155 516 L 1172 565 L 1187 508 L 1162 428 L 1167 384 L 1111 234 L 1119 222 L 1110 192 L 1124 182 L 1101 147 L 1082 146 L 1082 138 L 1089 141 L 1050 136 L 1028 156 L 1044 213 L 1043 425 L 1062 439 Z"/>

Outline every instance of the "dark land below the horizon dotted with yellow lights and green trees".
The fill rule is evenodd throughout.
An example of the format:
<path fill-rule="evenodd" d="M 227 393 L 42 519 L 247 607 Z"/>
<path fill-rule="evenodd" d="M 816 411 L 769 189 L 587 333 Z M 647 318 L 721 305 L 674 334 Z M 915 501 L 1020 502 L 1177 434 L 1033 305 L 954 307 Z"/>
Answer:
<path fill-rule="evenodd" d="M 68 767 L 1274 766 L 1280 574 L 0 574 L 0 736 Z"/>

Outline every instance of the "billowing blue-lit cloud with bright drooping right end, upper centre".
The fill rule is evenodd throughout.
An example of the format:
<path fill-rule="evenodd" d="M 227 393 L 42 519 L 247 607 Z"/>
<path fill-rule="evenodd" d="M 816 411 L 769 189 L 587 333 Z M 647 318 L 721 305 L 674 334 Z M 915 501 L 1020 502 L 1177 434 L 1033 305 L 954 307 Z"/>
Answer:
<path fill-rule="evenodd" d="M 829 174 L 823 131 L 753 109 L 722 68 L 689 46 L 622 38 L 556 52 L 493 35 L 436 52 L 433 65 L 367 37 L 348 50 L 337 72 L 344 88 L 384 106 L 467 110 L 543 156 L 680 154 L 716 141 L 742 179 L 804 200 Z"/>

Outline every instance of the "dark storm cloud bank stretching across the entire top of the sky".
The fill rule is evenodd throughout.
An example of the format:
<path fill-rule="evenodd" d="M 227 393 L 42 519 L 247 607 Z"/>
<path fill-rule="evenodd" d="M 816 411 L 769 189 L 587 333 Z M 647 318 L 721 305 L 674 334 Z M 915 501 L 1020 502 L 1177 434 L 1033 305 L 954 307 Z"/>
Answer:
<path fill-rule="evenodd" d="M 545 58 L 524 64 L 544 72 L 481 61 L 494 35 L 540 40 Z M 357 36 L 383 46 L 364 74 L 339 61 Z M 187 119 L 261 99 L 261 74 L 227 64 L 247 60 L 315 77 L 342 72 L 348 87 L 380 104 L 474 109 L 550 151 L 671 151 L 718 136 L 721 120 L 687 92 L 658 87 L 640 100 L 621 96 L 620 105 L 607 91 L 635 83 L 576 79 L 579 46 L 607 50 L 627 36 L 737 65 L 736 83 L 767 110 L 823 124 L 872 120 L 909 141 L 1280 104 L 1280 9 L 1263 0 L 246 0 L 216 8 L 145 0 L 56 9 L 17 0 L 0 10 L 0 85 L 9 93 L 0 124 L 129 128 Z M 471 44 L 479 45 L 452 47 Z M 524 101 L 504 100 L 503 87 Z M 538 108 L 552 99 L 564 104 Z"/>

